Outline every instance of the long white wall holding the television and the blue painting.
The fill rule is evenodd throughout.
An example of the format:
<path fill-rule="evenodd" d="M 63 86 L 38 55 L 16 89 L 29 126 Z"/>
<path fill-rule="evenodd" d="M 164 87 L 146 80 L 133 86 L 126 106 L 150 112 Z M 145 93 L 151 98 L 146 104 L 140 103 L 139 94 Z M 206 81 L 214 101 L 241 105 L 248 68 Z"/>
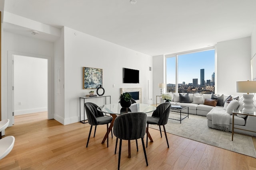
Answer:
<path fill-rule="evenodd" d="M 148 80 L 152 80 L 152 71 L 149 71 L 149 67 L 152 67 L 151 56 L 64 27 L 64 104 L 60 101 L 60 105 L 64 106 L 64 117 L 63 113 L 58 113 L 62 124 L 78 121 L 79 97 L 90 91 L 83 89 L 82 85 L 84 66 L 103 69 L 104 95 L 111 96 L 111 103 L 119 101 L 120 88 L 124 87 L 141 87 L 142 103 L 152 103 L 152 100 L 148 100 Z M 140 83 L 123 84 L 123 67 L 140 70 Z M 57 69 L 54 68 L 55 72 Z M 89 101 L 104 104 L 102 98 Z"/>

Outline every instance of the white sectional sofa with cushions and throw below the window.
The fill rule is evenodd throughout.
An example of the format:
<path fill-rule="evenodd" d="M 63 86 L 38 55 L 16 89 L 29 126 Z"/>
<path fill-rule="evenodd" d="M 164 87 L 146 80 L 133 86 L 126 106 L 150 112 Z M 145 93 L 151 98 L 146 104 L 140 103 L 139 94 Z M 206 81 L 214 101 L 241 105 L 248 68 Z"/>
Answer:
<path fill-rule="evenodd" d="M 243 106 L 243 98 L 242 97 L 238 97 L 238 96 L 233 96 L 233 95 L 216 95 L 214 94 L 212 96 L 212 94 L 186 94 L 186 93 L 170 93 L 170 95 L 172 96 L 172 100 L 171 100 L 171 104 L 172 105 L 180 105 L 180 106 L 188 106 L 189 108 L 189 113 L 190 114 L 194 114 L 194 115 L 202 115 L 202 116 L 206 116 L 207 119 L 207 125 L 208 127 L 212 127 L 212 113 L 213 112 L 225 112 L 225 113 L 230 113 L 230 124 L 228 127 L 228 131 L 232 131 L 232 109 L 242 109 Z M 225 102 L 226 100 L 229 98 L 230 96 L 232 96 L 231 98 L 234 100 L 238 100 L 239 102 L 236 102 L 236 106 L 232 106 L 230 105 L 230 107 L 228 107 L 228 104 L 226 104 L 225 106 Z M 212 102 L 211 98 L 213 98 L 212 100 L 218 99 L 217 105 L 218 106 L 209 106 L 206 104 L 209 104 L 206 102 L 210 101 Z M 228 101 L 227 101 L 228 102 Z M 210 103 L 210 105 L 212 105 Z M 225 107 L 224 107 L 225 106 Z M 228 111 L 227 111 L 228 109 Z M 256 111 L 256 108 L 254 107 L 254 110 Z M 184 110 L 184 113 L 186 113 L 186 109 Z M 246 117 L 238 117 L 237 115 L 234 116 L 234 127 L 235 128 L 239 128 L 239 129 L 234 129 L 234 131 L 238 132 L 238 133 L 244 133 L 247 135 L 254 135 L 256 136 L 255 132 L 251 132 L 251 131 L 256 131 L 256 117 L 254 116 L 246 116 Z M 249 131 L 243 131 L 240 129 L 246 129 Z"/>

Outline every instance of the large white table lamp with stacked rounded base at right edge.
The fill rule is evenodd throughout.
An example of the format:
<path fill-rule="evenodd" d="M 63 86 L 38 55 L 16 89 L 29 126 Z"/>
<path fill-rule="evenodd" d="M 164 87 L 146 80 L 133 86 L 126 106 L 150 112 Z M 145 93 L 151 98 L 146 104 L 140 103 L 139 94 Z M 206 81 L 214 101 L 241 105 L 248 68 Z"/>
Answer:
<path fill-rule="evenodd" d="M 241 81 L 241 82 L 236 82 L 236 92 L 240 92 L 240 93 L 247 93 L 247 94 L 243 94 L 244 97 L 244 108 L 243 108 L 243 112 L 244 113 L 254 113 L 253 110 L 253 94 L 249 94 L 249 93 L 256 93 L 256 81 Z"/>

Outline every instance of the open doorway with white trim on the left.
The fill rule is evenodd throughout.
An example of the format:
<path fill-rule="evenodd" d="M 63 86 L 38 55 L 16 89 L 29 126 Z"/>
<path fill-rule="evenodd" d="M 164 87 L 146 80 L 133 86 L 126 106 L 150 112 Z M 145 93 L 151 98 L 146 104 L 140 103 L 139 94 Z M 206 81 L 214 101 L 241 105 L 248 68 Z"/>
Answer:
<path fill-rule="evenodd" d="M 25 61 L 27 60 L 31 60 L 31 61 L 29 62 L 27 61 L 25 63 L 23 62 L 21 66 L 16 67 L 15 65 L 19 63 L 16 57 L 20 57 L 18 59 L 22 59 L 24 57 Z M 15 61 L 15 59 L 17 61 Z M 37 64 L 33 63 L 34 61 L 37 61 Z M 43 65 L 44 68 L 39 69 L 38 63 L 39 65 Z M 53 102 L 52 99 L 54 98 L 54 93 L 52 93 L 52 90 L 54 87 L 52 84 L 53 76 L 51 75 L 52 74 L 51 70 L 53 70 L 53 68 L 51 63 L 52 63 L 51 57 L 8 51 L 8 119 L 10 119 L 9 125 L 14 124 L 14 115 L 21 115 L 24 113 L 35 113 L 35 112 L 38 113 L 42 111 L 44 113 L 47 112 L 48 119 L 54 118 L 53 111 L 52 111 L 54 106 L 54 104 L 52 103 Z M 27 68 L 30 68 L 30 70 Z M 27 79 L 27 77 L 23 79 L 19 77 L 14 78 L 14 69 L 16 69 L 16 71 L 18 72 L 22 72 L 21 71 L 22 69 L 23 70 L 27 69 L 26 72 L 30 74 L 27 76 L 28 77 L 30 76 L 30 79 Z M 45 71 L 45 69 L 47 71 Z M 39 72 L 36 72 L 36 70 L 39 70 Z M 42 78 L 42 72 L 44 72 L 43 75 L 46 79 Z M 37 78 L 43 79 L 44 82 L 42 83 L 41 80 Z M 14 82 L 16 84 L 16 89 L 20 88 L 26 91 L 26 93 L 16 92 L 16 94 L 22 94 L 22 96 L 18 96 L 17 98 L 14 98 L 14 89 L 15 89 Z M 19 83 L 23 83 L 23 84 L 19 84 Z M 30 84 L 33 84 L 33 86 L 30 86 Z M 44 85 L 41 86 L 41 84 L 44 84 Z M 30 86 L 30 88 L 28 88 L 28 86 Z M 31 90 L 31 91 L 28 92 L 28 90 Z M 40 95 L 41 92 L 43 92 L 46 97 L 44 96 L 41 99 L 41 95 Z M 40 105 L 40 102 L 42 102 L 43 104 Z M 16 114 L 14 114 L 14 112 L 16 112 Z"/>

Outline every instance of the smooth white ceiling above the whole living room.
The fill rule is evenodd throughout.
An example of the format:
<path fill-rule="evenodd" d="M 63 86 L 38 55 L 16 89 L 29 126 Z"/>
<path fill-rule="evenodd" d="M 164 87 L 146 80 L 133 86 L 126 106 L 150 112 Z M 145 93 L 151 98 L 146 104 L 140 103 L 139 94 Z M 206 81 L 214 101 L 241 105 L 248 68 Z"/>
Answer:
<path fill-rule="evenodd" d="M 151 56 L 248 37 L 256 0 L 5 0 L 4 11 Z"/>

